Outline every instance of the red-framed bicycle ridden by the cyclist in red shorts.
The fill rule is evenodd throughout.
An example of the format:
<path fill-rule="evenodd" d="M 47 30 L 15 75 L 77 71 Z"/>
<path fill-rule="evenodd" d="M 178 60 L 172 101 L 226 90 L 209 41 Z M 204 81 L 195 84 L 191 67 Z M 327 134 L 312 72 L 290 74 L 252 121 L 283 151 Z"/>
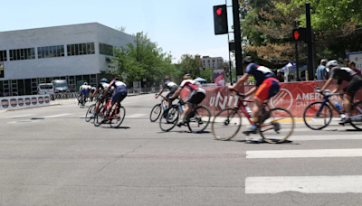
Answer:
<path fill-rule="evenodd" d="M 236 96 L 239 97 L 235 108 L 224 108 L 214 117 L 211 124 L 211 131 L 214 138 L 218 140 L 230 140 L 239 132 L 242 126 L 242 116 L 239 112 L 243 112 L 252 124 L 251 115 L 246 111 L 246 103 L 252 103 L 252 100 L 244 99 L 243 94 L 234 89 Z M 267 143 L 282 143 L 294 130 L 294 118 L 291 112 L 285 108 L 270 108 L 269 100 L 262 103 L 259 112 L 259 122 L 257 124 L 257 133 Z"/>

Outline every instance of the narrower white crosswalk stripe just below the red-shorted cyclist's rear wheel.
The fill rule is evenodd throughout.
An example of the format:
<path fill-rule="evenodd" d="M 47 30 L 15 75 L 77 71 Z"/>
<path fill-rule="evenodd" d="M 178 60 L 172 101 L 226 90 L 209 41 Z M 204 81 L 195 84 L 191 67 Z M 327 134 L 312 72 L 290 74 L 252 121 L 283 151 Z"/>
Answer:
<path fill-rule="evenodd" d="M 303 158 L 303 157 L 350 157 L 362 156 L 362 149 L 315 149 L 315 150 L 262 150 L 246 151 L 246 158 Z"/>

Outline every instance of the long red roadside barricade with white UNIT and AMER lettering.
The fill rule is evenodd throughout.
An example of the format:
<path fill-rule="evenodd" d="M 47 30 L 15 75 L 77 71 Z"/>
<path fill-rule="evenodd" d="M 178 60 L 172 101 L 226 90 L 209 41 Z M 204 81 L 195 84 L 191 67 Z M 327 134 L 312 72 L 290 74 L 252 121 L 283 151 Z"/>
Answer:
<path fill-rule="evenodd" d="M 281 89 L 277 95 L 270 100 L 271 108 L 286 108 L 291 111 L 294 117 L 302 117 L 305 108 L 314 101 L 322 101 L 322 97 L 319 93 L 315 92 L 314 87 L 322 87 L 325 81 L 305 81 L 305 82 L 291 82 L 281 83 Z M 344 82 L 342 88 L 345 88 L 348 83 Z M 332 91 L 337 86 L 337 81 L 329 86 L 328 89 Z M 252 85 L 243 85 L 238 91 L 240 93 L 246 93 Z M 230 95 L 226 87 L 214 87 L 205 88 L 206 98 L 201 102 L 200 105 L 204 105 L 210 109 L 211 115 L 216 115 L 220 110 L 224 108 L 233 108 L 235 98 Z M 189 95 L 188 89 L 181 91 L 180 97 L 186 100 Z M 253 96 L 246 98 L 252 99 Z M 333 96 L 329 98 L 332 103 L 338 102 L 339 105 L 343 106 L 342 97 Z M 362 100 L 362 93 L 359 90 L 355 96 L 355 102 Z M 252 103 L 248 103 L 248 107 L 252 107 Z M 337 114 L 335 114 L 337 115 Z"/>

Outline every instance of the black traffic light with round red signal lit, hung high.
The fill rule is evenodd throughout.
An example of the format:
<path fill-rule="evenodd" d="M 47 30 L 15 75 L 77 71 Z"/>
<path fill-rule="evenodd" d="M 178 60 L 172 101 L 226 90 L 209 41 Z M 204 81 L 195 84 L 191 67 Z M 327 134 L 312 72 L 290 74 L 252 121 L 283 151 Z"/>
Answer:
<path fill-rule="evenodd" d="M 214 33 L 215 35 L 229 33 L 226 5 L 214 5 Z"/>

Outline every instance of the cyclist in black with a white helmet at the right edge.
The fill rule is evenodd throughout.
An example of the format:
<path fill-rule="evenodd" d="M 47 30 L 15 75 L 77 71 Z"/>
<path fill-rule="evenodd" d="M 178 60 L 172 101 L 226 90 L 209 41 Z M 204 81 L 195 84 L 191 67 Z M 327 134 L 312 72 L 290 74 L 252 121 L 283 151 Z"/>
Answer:
<path fill-rule="evenodd" d="M 350 108 L 351 102 L 357 92 L 357 90 L 362 88 L 362 78 L 360 78 L 356 71 L 351 70 L 348 67 L 338 67 L 338 61 L 333 60 L 327 63 L 327 67 L 330 70 L 329 80 L 327 80 L 326 84 L 320 89 L 320 92 L 323 92 L 324 89 L 329 87 L 329 84 L 333 81 L 333 79 L 337 79 L 337 88 L 332 91 L 332 93 L 339 92 L 342 81 L 348 81 L 348 86 L 343 89 L 343 102 L 344 102 L 344 109 L 346 111 L 346 118 L 343 118 L 339 124 L 345 125 L 350 123 Z"/>

